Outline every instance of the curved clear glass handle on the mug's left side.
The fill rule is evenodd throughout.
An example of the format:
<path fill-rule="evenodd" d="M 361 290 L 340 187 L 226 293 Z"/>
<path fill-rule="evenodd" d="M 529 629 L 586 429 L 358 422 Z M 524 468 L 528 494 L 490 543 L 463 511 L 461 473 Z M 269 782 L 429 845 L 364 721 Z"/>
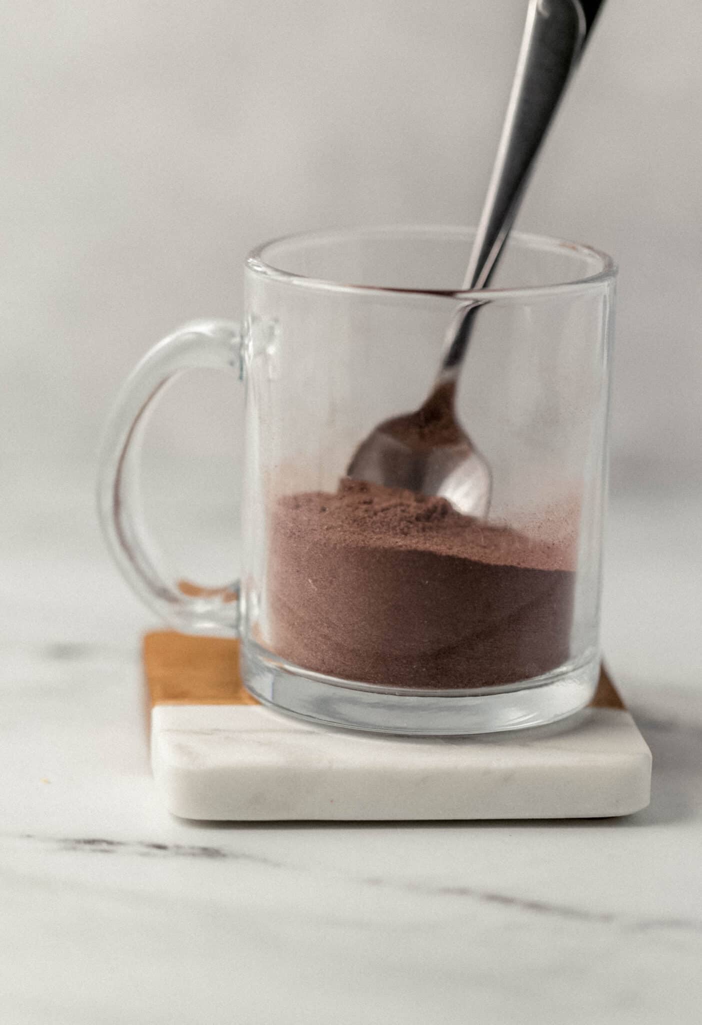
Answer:
<path fill-rule="evenodd" d="M 169 583 L 157 569 L 139 496 L 146 413 L 186 370 L 231 370 L 243 380 L 242 332 L 230 321 L 186 324 L 155 345 L 132 371 L 107 422 L 99 462 L 98 512 L 115 562 L 145 604 L 183 633 L 238 636 L 238 581 L 203 588 Z"/>

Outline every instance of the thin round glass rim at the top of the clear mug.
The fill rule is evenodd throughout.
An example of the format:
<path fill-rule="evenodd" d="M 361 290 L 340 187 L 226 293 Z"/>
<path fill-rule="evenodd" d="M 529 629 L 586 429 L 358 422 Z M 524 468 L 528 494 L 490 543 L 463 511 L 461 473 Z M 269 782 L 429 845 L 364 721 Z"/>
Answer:
<path fill-rule="evenodd" d="M 594 274 L 585 275 L 568 281 L 555 281 L 544 285 L 518 285 L 509 288 L 476 288 L 476 289 L 436 289 L 436 288 L 402 288 L 392 285 L 365 285 L 353 282 L 340 282 L 325 278 L 316 278 L 297 272 L 284 271 L 269 261 L 269 252 L 276 246 L 286 243 L 302 242 L 334 242 L 378 238 L 386 235 L 395 236 L 398 239 L 404 237 L 421 238 L 430 237 L 464 237 L 470 243 L 471 236 L 476 232 L 475 228 L 463 225 L 446 224 L 378 224 L 360 228 L 327 229 L 312 232 L 300 232 L 292 235 L 281 235 L 267 242 L 262 242 L 255 246 L 246 257 L 246 268 L 261 277 L 272 281 L 286 283 L 302 288 L 320 291 L 345 292 L 352 294 L 376 293 L 379 295 L 418 295 L 418 296 L 438 296 L 450 299 L 481 299 L 485 302 L 490 297 L 499 300 L 523 299 L 527 297 L 544 296 L 561 293 L 579 292 L 600 287 L 607 282 L 613 281 L 618 272 L 617 264 L 612 257 L 602 249 L 586 245 L 581 242 L 574 242 L 568 239 L 559 239 L 549 235 L 536 235 L 530 232 L 511 232 L 510 241 L 526 249 L 540 249 L 552 251 L 568 250 L 581 255 L 590 260 L 597 260 L 600 269 Z M 467 255 L 468 259 L 468 255 Z"/>

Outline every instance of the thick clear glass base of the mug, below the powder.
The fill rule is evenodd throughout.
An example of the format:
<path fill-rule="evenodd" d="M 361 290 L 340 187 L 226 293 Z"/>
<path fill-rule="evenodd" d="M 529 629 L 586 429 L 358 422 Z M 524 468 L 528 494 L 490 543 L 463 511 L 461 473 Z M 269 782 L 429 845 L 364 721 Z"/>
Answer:
<path fill-rule="evenodd" d="M 416 690 L 375 687 L 311 672 L 252 641 L 243 645 L 247 689 L 276 711 L 319 726 L 404 736 L 470 736 L 565 719 L 591 701 L 599 653 L 504 687 Z"/>

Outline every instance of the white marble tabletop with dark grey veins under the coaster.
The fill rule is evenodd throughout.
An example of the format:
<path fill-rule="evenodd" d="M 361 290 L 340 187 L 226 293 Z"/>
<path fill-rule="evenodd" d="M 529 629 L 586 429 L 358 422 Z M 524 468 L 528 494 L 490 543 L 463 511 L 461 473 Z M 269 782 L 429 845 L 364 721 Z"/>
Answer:
<path fill-rule="evenodd" d="M 156 794 L 137 661 L 149 623 L 102 555 L 87 491 L 33 502 L 10 484 L 3 1022 L 699 1021 L 699 496 L 613 509 L 606 638 L 654 754 L 645 812 L 206 826 Z"/>

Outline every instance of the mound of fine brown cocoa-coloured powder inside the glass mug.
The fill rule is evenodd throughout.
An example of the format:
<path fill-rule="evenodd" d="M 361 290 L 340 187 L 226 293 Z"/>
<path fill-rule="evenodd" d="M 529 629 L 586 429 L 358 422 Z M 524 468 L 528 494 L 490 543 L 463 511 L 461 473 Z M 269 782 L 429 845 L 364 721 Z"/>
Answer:
<path fill-rule="evenodd" d="M 574 573 L 557 545 L 445 499 L 345 480 L 271 510 L 268 637 L 307 669 L 386 687 L 528 680 L 569 657 Z"/>

